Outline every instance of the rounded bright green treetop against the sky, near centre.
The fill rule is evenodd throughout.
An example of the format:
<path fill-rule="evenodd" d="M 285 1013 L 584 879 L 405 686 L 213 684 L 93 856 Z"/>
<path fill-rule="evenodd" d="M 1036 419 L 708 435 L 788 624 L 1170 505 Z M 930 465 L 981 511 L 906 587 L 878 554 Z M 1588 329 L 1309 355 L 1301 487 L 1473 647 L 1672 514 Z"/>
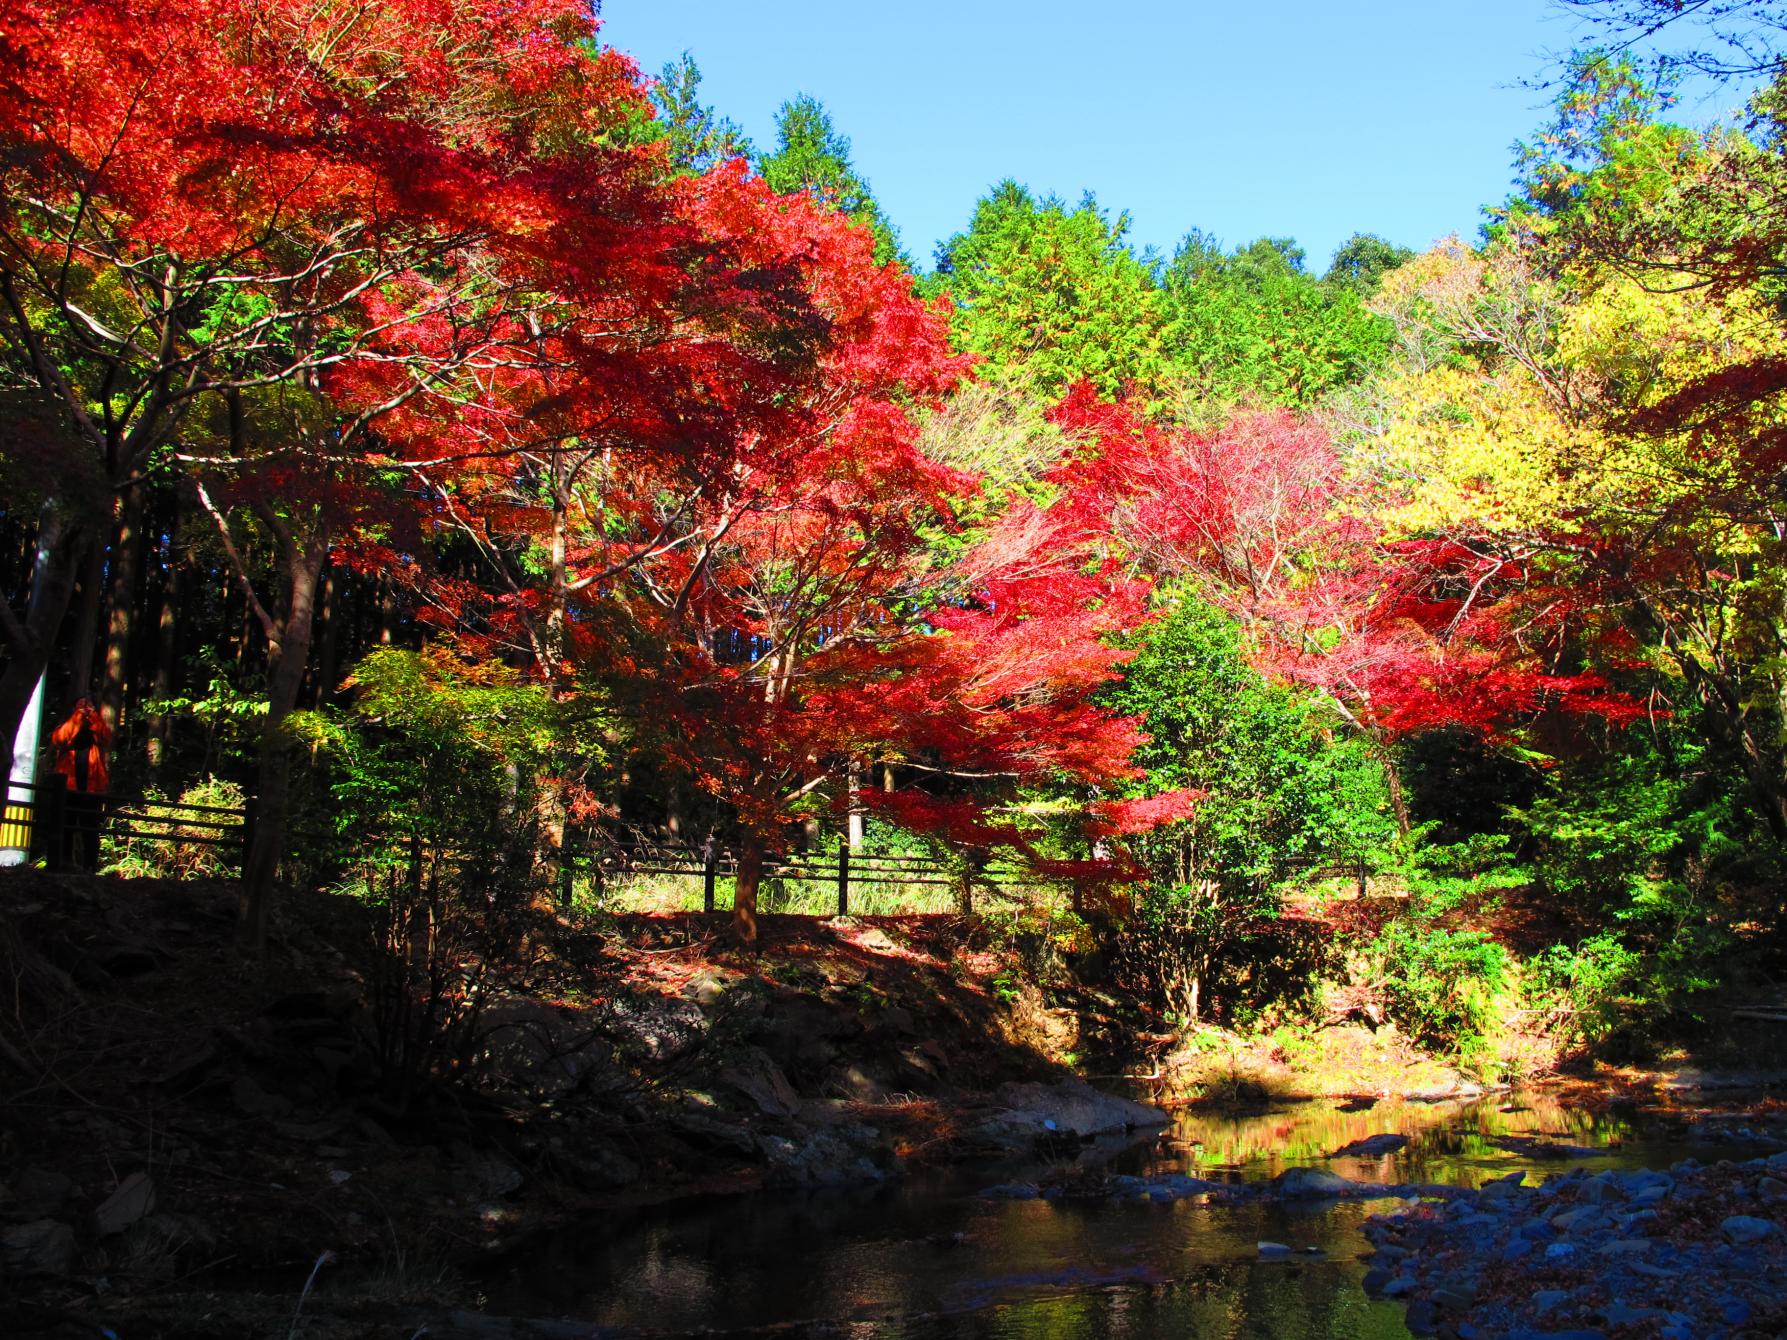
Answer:
<path fill-rule="evenodd" d="M 1112 220 L 1090 195 L 1069 209 L 999 182 L 936 252 L 931 286 L 954 302 L 956 347 L 1044 397 L 1078 381 L 1106 395 L 1158 388 L 1160 295 L 1128 230 L 1128 214 Z"/>

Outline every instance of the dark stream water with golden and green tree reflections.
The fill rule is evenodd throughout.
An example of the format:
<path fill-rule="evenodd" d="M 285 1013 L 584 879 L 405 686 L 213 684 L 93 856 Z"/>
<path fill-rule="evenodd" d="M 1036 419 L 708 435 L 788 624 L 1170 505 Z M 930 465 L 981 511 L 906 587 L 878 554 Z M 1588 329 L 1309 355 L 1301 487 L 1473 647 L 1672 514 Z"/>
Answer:
<path fill-rule="evenodd" d="M 1498 1140 L 1608 1147 L 1594 1160 L 1599 1167 L 1665 1165 L 1694 1152 L 1633 1138 L 1619 1118 L 1526 1095 L 1369 1111 L 1185 1111 L 1162 1140 L 1124 1151 L 1112 1167 L 1254 1181 L 1385 1131 L 1406 1135 L 1408 1147 L 1326 1167 L 1362 1181 L 1476 1185 L 1580 1161 L 1535 1158 Z M 1381 1201 L 974 1197 L 1010 1176 L 958 1168 L 890 1188 L 617 1215 L 556 1236 L 513 1274 L 488 1281 L 488 1304 L 659 1335 L 801 1320 L 877 1340 L 1406 1335 L 1403 1310 L 1367 1301 L 1358 1285 L 1360 1226 Z M 1321 1254 L 1260 1261 L 1260 1240 Z"/>

